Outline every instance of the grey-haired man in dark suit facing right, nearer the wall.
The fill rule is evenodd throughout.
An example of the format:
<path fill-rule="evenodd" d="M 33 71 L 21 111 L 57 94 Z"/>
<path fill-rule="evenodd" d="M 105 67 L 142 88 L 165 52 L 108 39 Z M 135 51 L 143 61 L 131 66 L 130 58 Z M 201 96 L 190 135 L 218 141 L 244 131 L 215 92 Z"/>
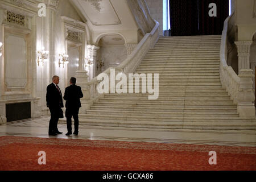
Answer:
<path fill-rule="evenodd" d="M 57 129 L 57 124 L 60 117 L 60 108 L 64 107 L 61 90 L 58 86 L 59 81 L 59 76 L 53 76 L 52 83 L 47 86 L 46 104 L 51 112 L 48 131 L 49 135 L 62 134 L 62 132 Z"/>

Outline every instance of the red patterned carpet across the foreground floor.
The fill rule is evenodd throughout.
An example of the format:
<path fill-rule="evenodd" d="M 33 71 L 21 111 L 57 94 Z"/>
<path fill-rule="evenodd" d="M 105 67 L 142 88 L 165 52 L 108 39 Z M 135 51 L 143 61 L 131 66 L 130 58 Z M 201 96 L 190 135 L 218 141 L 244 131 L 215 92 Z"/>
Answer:
<path fill-rule="evenodd" d="M 46 152 L 46 165 L 38 152 Z M 209 151 L 217 165 L 209 165 Z M 256 170 L 256 147 L 0 137 L 0 170 Z"/>

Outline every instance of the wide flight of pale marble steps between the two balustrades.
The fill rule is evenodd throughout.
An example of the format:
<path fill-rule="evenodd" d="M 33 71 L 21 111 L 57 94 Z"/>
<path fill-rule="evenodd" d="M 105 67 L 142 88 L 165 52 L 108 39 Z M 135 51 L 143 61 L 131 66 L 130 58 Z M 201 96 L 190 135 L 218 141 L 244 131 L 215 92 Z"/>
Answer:
<path fill-rule="evenodd" d="M 105 94 L 80 125 L 162 129 L 256 129 L 240 118 L 220 82 L 221 36 L 161 37 L 137 73 L 159 73 L 159 98 L 148 94 Z M 154 85 L 154 84 L 153 84 Z"/>

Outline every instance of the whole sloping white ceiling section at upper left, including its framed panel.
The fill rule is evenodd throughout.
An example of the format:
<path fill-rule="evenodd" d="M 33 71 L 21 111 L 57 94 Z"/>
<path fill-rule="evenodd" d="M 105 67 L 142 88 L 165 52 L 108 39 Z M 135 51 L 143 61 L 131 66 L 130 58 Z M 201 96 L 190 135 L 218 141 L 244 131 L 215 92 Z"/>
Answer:
<path fill-rule="evenodd" d="M 93 31 L 137 30 L 125 0 L 71 0 Z"/>

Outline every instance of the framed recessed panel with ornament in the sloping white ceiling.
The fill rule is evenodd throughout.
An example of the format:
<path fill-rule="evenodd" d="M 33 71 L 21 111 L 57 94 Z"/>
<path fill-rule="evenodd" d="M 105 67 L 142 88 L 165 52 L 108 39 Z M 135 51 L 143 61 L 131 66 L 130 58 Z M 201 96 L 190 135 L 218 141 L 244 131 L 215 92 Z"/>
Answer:
<path fill-rule="evenodd" d="M 94 26 L 121 24 L 110 0 L 78 0 Z"/>

